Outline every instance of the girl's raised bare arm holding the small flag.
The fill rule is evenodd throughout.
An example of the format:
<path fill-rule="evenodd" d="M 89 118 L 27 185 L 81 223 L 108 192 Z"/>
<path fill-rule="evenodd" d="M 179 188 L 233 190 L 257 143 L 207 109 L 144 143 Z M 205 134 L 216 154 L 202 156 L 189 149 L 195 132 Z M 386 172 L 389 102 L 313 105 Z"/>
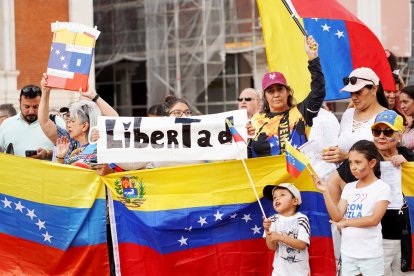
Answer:
<path fill-rule="evenodd" d="M 316 189 L 318 189 L 323 195 L 329 216 L 335 222 L 340 221 L 344 217 L 344 214 L 348 207 L 348 202 L 345 199 L 341 198 L 339 200 L 339 203 L 336 203 L 328 192 L 327 183 L 319 179 L 319 177 L 316 175 L 312 175 L 312 179 L 315 183 Z"/>

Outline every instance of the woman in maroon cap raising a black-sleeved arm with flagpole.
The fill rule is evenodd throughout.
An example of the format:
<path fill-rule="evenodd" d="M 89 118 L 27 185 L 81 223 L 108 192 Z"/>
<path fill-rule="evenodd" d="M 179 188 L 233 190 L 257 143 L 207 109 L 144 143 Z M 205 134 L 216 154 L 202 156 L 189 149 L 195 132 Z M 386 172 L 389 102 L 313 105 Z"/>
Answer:
<path fill-rule="evenodd" d="M 305 100 L 295 104 L 293 89 L 280 72 L 266 73 L 262 80 L 262 107 L 252 117 L 248 133 L 253 138 L 249 157 L 280 155 L 285 143 L 301 146 L 308 141 L 312 119 L 316 117 L 325 98 L 325 78 L 318 57 L 318 44 L 312 36 L 305 38 L 309 59 L 311 92 Z"/>

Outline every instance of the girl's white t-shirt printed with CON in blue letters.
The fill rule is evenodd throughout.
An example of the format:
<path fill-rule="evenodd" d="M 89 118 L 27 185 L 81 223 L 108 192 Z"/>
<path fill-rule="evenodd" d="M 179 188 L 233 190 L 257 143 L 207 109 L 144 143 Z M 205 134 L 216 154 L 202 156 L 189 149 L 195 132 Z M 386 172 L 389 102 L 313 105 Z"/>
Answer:
<path fill-rule="evenodd" d="M 391 189 L 381 179 L 364 188 L 356 188 L 358 181 L 345 185 L 341 198 L 348 203 L 344 218 L 371 216 L 378 201 L 390 201 Z M 342 229 L 341 254 L 356 258 L 383 256 L 381 222 L 371 227 L 345 227 Z"/>

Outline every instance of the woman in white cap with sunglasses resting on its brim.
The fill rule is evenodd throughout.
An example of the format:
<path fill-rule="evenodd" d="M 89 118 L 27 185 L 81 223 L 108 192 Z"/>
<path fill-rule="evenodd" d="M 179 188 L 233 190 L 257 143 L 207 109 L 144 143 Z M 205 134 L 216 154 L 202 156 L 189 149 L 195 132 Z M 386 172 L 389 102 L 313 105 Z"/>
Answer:
<path fill-rule="evenodd" d="M 384 89 L 375 72 L 367 67 L 352 71 L 343 79 L 341 91 L 351 93 L 353 107 L 341 119 L 338 145 L 324 150 L 322 158 L 329 163 L 340 163 L 348 158 L 348 151 L 359 140 L 373 140 L 371 126 L 375 117 L 388 109 Z"/>

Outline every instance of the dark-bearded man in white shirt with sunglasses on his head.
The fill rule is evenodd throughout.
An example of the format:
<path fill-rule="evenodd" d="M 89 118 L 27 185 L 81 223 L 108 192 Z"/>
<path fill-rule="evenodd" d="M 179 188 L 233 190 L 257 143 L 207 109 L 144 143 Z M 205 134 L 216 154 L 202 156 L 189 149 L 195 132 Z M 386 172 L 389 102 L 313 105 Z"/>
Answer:
<path fill-rule="evenodd" d="M 41 96 L 42 91 L 36 85 L 22 88 L 19 99 L 20 112 L 4 120 L 0 126 L 0 147 L 5 149 L 12 144 L 15 155 L 51 159 L 53 143 L 43 133 L 37 120 Z"/>

